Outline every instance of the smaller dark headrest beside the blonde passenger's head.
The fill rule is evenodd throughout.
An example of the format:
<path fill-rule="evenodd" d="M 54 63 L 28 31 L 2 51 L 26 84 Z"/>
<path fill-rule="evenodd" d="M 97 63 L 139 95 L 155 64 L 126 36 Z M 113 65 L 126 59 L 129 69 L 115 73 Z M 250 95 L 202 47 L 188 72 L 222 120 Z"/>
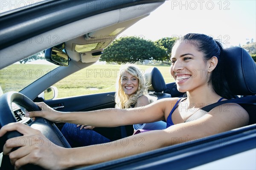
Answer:
<path fill-rule="evenodd" d="M 156 67 L 146 69 L 144 75 L 146 81 L 148 82 L 147 86 L 149 91 L 163 92 L 163 90 L 166 89 L 163 75 Z"/>

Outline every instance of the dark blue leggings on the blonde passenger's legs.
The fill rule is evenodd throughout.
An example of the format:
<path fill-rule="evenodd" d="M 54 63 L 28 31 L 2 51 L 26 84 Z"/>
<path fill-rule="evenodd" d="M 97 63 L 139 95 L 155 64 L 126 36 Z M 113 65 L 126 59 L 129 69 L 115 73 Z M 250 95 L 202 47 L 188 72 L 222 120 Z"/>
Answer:
<path fill-rule="evenodd" d="M 76 127 L 76 124 L 64 124 L 61 133 L 67 139 L 71 147 L 83 147 L 93 144 L 103 144 L 111 140 L 90 129 Z"/>

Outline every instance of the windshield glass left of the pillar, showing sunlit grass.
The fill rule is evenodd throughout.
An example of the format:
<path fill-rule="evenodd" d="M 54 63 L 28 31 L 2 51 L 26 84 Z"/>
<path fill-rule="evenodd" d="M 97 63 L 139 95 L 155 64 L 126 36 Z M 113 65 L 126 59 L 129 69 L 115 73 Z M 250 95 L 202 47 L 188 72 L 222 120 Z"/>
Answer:
<path fill-rule="evenodd" d="M 19 92 L 38 78 L 58 67 L 44 59 L 44 53 L 38 52 L 19 62 L 0 70 L 0 86 L 3 93 Z"/>

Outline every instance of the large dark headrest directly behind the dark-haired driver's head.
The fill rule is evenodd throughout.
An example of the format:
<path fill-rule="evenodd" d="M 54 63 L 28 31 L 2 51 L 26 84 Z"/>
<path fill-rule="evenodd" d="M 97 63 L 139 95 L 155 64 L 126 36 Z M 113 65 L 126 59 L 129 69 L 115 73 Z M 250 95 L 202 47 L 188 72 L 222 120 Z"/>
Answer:
<path fill-rule="evenodd" d="M 224 71 L 233 95 L 256 94 L 256 63 L 245 49 L 224 49 Z"/>

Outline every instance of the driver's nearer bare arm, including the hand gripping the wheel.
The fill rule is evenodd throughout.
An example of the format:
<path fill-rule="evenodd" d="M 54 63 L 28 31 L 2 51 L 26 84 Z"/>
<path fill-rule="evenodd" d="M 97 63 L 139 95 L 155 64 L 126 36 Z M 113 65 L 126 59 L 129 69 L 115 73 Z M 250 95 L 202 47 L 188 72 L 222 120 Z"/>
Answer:
<path fill-rule="evenodd" d="M 143 153 L 181 142 L 204 138 L 209 135 L 221 133 L 234 128 L 247 125 L 249 116 L 247 112 L 237 104 L 230 104 L 229 109 L 216 107 L 207 115 L 195 121 L 173 125 L 166 130 L 154 130 L 146 133 L 132 135 L 127 138 L 113 141 L 106 144 L 98 144 L 80 148 L 62 148 L 52 143 L 31 127 L 24 124 L 13 123 L 4 126 L 0 130 L 0 136 L 7 131 L 18 130 L 23 133 L 24 144 L 18 144 L 15 139 L 6 142 L 3 153 L 9 154 L 16 167 L 24 164 L 39 164 L 49 169 L 67 169 L 99 162 L 109 161 L 116 158 Z M 235 123 L 234 123 L 235 122 Z M 36 134 L 36 135 L 35 135 Z M 28 137 L 28 138 L 26 138 Z M 20 138 L 20 137 L 17 137 Z M 43 145 L 36 145 L 37 138 L 44 140 Z M 18 141 L 18 139 L 16 139 Z M 18 150 L 11 150 L 13 147 L 22 146 Z M 101 153 L 101 154 L 99 154 Z M 47 156 L 52 156 L 51 158 Z"/>

